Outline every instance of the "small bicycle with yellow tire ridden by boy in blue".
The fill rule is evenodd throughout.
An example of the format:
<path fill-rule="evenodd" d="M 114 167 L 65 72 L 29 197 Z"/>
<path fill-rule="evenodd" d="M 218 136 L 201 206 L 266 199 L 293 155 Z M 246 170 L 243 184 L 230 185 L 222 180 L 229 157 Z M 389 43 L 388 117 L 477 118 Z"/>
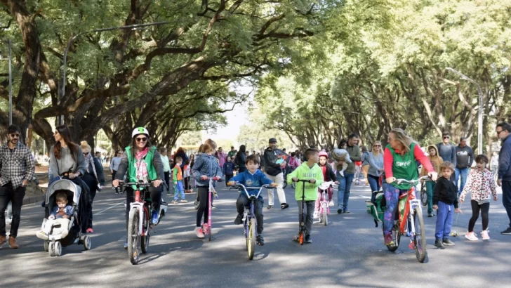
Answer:
<path fill-rule="evenodd" d="M 250 206 L 245 207 L 244 218 L 245 221 L 243 223 L 243 232 L 245 233 L 245 241 L 246 241 L 246 251 L 248 252 L 248 260 L 253 259 L 253 254 L 255 252 L 255 239 L 259 236 L 257 233 L 257 218 L 255 218 L 255 201 L 257 201 L 261 191 L 263 188 L 272 188 L 271 185 L 263 185 L 261 187 L 246 187 L 243 184 L 236 183 L 234 186 L 237 186 L 244 190 L 246 197 L 250 199 Z M 249 195 L 247 189 L 259 189 L 257 195 Z"/>

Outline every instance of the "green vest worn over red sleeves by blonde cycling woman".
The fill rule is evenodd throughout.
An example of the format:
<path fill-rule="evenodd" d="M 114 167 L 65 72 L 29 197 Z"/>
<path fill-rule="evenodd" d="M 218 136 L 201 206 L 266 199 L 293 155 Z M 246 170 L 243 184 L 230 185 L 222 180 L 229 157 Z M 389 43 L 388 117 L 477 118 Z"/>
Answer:
<path fill-rule="evenodd" d="M 410 145 L 410 151 L 406 152 L 402 156 L 401 154 L 396 153 L 396 151 L 392 149 L 390 145 L 387 145 L 387 149 L 390 150 L 392 157 L 394 157 L 394 163 L 392 163 L 392 174 L 394 175 L 394 178 L 417 180 L 419 173 L 417 170 L 415 155 L 413 155 L 415 144 L 412 143 Z M 400 185 L 397 185 L 397 183 L 392 183 L 390 185 L 402 190 L 409 190 L 411 187 L 410 183 L 401 183 Z"/>

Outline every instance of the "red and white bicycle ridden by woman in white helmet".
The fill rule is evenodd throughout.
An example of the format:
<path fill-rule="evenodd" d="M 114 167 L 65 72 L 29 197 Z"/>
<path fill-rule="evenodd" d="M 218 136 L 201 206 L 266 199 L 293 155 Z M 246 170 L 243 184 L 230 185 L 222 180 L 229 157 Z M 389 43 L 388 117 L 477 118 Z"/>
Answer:
<path fill-rule="evenodd" d="M 152 204 L 149 192 L 152 183 L 119 183 L 121 188 L 130 185 L 135 186 L 133 192 L 135 199 L 130 203 L 130 213 L 128 214 L 128 256 L 131 263 L 136 265 L 138 264 L 140 251 L 142 251 L 142 254 L 146 254 L 149 250 L 150 230 L 153 227 L 150 224 Z M 160 209 L 158 223 L 164 214 L 164 210 Z"/>

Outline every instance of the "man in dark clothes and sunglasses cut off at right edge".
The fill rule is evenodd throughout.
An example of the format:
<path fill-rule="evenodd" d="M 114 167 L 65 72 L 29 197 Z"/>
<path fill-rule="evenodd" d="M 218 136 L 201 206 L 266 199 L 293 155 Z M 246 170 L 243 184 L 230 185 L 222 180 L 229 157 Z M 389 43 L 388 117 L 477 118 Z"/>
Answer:
<path fill-rule="evenodd" d="M 511 235 L 511 125 L 507 122 L 499 123 L 495 131 L 502 141 L 498 153 L 497 185 L 502 186 L 502 204 L 510 221 L 509 227 L 500 234 Z"/>

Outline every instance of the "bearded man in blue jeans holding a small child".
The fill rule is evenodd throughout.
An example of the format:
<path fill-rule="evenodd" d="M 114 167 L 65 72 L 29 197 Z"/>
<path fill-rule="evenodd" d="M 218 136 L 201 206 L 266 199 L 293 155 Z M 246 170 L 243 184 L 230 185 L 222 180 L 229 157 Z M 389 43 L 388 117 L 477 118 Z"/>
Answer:
<path fill-rule="evenodd" d="M 359 143 L 359 136 L 355 133 L 351 134 L 347 139 L 346 150 L 352 162 L 347 164 L 344 176 L 337 173 L 337 180 L 339 181 L 339 190 L 337 192 L 338 214 L 350 213 L 350 209 L 347 208 L 347 202 L 350 199 L 351 185 L 355 176 L 355 162 L 361 161 L 362 159 L 357 143 Z"/>

